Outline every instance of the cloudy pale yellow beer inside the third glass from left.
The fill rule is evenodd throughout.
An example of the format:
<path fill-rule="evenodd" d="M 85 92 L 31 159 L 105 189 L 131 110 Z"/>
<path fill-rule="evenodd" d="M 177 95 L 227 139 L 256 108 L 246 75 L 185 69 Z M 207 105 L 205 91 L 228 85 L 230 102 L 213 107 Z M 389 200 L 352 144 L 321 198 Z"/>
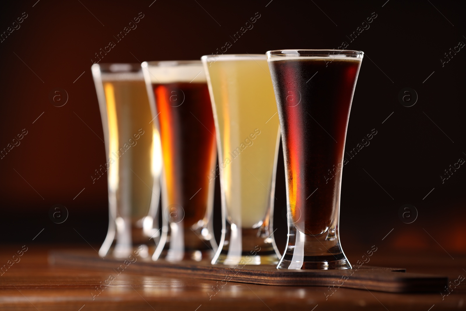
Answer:
<path fill-rule="evenodd" d="M 207 67 L 221 142 L 219 169 L 227 220 L 240 228 L 257 228 L 268 221 L 279 135 L 267 60 L 222 59 Z"/>

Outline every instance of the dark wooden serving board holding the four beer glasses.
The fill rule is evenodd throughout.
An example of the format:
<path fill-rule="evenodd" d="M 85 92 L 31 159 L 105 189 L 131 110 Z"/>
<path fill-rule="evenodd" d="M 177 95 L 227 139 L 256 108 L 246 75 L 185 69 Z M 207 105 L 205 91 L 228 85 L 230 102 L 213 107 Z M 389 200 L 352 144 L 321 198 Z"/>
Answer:
<path fill-rule="evenodd" d="M 49 254 L 49 263 L 79 268 L 109 268 L 117 273 L 118 267 L 129 268 L 129 273 L 154 276 L 175 276 L 286 286 L 330 286 L 378 290 L 392 293 L 440 292 L 445 289 L 446 276 L 406 273 L 405 269 L 362 266 L 348 270 L 287 270 L 268 265 L 226 266 L 210 262 L 183 261 L 153 262 L 150 258 L 137 258 L 134 263 L 120 258 L 105 258 L 96 253 L 76 250 L 57 250 Z M 123 266 L 122 266 L 123 265 Z M 120 269 L 121 270 L 121 269 Z"/>

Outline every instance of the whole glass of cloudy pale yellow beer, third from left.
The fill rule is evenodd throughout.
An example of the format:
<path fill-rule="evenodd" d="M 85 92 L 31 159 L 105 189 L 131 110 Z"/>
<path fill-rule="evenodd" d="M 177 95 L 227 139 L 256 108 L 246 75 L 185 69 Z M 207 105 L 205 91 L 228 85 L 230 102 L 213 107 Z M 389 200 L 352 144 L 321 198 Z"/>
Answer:
<path fill-rule="evenodd" d="M 212 263 L 276 264 L 272 223 L 280 143 L 265 55 L 205 55 L 219 142 L 222 236 Z"/>

